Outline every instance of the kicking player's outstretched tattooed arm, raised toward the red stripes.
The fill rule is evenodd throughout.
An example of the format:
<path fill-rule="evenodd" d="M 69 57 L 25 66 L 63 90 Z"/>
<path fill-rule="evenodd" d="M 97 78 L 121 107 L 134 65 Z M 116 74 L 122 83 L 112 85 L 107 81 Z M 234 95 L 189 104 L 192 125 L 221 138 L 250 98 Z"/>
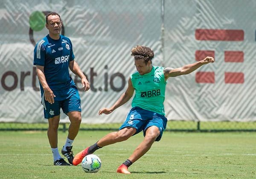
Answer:
<path fill-rule="evenodd" d="M 214 62 L 213 57 L 206 57 L 204 58 L 204 60 L 200 60 L 196 63 L 184 65 L 183 67 L 180 67 L 180 68 L 169 68 L 169 67 L 164 68 L 163 72 L 164 72 L 165 79 L 167 80 L 169 77 L 177 77 L 183 74 L 190 74 L 191 72 L 195 71 L 202 65 L 206 65 L 208 63 L 213 63 L 213 62 Z"/>

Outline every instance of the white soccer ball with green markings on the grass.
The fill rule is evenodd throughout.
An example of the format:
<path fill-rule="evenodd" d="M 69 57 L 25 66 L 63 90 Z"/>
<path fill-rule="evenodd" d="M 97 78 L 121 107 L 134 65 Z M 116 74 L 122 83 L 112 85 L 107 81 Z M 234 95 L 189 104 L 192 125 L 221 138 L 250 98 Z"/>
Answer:
<path fill-rule="evenodd" d="M 90 154 L 83 158 L 81 166 L 87 173 L 96 173 L 101 168 L 101 160 L 98 156 Z"/>

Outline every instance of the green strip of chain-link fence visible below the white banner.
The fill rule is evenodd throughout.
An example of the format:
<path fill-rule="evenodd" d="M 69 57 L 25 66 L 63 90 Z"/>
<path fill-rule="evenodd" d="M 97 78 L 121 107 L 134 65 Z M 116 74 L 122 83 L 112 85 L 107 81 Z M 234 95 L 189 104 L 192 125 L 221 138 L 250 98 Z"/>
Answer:
<path fill-rule="evenodd" d="M 84 131 L 116 131 L 122 123 L 85 124 L 80 130 Z M 61 123 L 59 131 L 67 131 L 69 123 Z M 0 131 L 46 131 L 47 123 L 0 123 Z M 256 131 L 256 122 L 196 122 L 196 121 L 168 121 L 166 131 L 188 132 L 228 132 L 228 131 Z"/>

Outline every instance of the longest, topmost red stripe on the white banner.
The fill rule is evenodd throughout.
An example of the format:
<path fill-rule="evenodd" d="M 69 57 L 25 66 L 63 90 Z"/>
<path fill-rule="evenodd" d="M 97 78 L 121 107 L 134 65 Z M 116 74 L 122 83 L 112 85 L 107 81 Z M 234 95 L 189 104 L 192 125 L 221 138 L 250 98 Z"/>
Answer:
<path fill-rule="evenodd" d="M 196 40 L 243 41 L 243 30 L 196 29 Z"/>

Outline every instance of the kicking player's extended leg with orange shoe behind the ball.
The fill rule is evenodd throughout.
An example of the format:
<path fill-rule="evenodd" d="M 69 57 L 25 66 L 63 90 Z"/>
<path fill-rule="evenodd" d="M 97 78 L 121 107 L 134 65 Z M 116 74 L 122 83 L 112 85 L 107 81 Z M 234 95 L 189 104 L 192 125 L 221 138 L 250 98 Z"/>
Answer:
<path fill-rule="evenodd" d="M 87 156 L 88 154 L 93 153 L 99 148 L 129 139 L 132 135 L 135 134 L 135 132 L 136 132 L 135 128 L 127 127 L 117 132 L 111 132 L 107 134 L 98 142 L 96 142 L 94 145 L 91 145 L 90 147 L 87 147 L 83 151 L 76 154 L 76 156 L 73 159 L 73 165 L 78 165 L 79 163 L 82 162 L 82 159 L 84 158 L 84 156 Z"/>

